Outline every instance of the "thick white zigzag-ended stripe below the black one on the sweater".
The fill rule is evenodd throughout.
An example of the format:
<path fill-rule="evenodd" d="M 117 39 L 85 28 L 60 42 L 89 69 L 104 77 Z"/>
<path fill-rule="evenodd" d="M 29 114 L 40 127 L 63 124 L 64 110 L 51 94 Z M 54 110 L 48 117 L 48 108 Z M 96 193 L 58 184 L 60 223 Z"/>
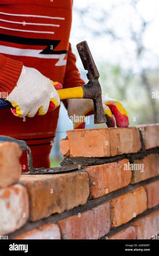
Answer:
<path fill-rule="evenodd" d="M 42 59 L 59 59 L 56 62 L 55 66 L 64 66 L 66 65 L 66 60 L 64 60 L 66 54 L 40 54 L 44 49 L 33 50 L 33 49 L 20 49 L 10 46 L 0 45 L 0 53 L 9 54 L 14 56 L 28 56 L 36 57 Z"/>

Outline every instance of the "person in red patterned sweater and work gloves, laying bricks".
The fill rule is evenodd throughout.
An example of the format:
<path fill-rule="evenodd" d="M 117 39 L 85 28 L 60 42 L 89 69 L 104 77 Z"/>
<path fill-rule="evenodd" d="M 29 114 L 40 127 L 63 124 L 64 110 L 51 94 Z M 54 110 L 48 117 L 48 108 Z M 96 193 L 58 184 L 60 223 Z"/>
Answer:
<path fill-rule="evenodd" d="M 36 168 L 50 166 L 60 105 L 56 89 L 85 83 L 68 41 L 71 15 L 72 0 L 0 2 L 0 92 L 13 106 L 0 111 L 0 134 L 25 140 Z M 64 104 L 69 116 L 93 113 L 89 99 Z M 117 126 L 128 126 L 120 102 L 103 97 L 103 107 L 109 127 L 115 124 L 112 114 Z M 84 123 L 75 123 L 74 128 L 84 128 Z M 23 171 L 27 170 L 26 153 L 20 161 Z"/>

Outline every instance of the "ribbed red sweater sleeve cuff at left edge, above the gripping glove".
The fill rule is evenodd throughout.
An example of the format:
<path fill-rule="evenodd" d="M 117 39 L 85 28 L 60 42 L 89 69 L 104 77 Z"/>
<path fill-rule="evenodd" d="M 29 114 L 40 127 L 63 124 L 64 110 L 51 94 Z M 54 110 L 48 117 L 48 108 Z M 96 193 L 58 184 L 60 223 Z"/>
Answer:
<path fill-rule="evenodd" d="M 0 92 L 8 94 L 16 86 L 23 63 L 0 54 Z"/>

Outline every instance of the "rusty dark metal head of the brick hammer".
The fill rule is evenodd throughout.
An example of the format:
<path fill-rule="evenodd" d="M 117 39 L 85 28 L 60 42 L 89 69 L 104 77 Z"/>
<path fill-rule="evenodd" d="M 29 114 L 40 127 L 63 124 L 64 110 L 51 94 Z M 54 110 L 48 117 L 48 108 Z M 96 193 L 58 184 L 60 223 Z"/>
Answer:
<path fill-rule="evenodd" d="M 104 114 L 102 104 L 102 90 L 99 84 L 99 72 L 96 64 L 93 60 L 92 54 L 86 41 L 78 43 L 76 45 L 80 58 L 82 60 L 85 70 L 88 70 L 87 78 L 89 82 L 83 85 L 83 92 L 85 99 L 92 99 L 94 103 L 94 123 L 106 123 L 106 117 Z"/>

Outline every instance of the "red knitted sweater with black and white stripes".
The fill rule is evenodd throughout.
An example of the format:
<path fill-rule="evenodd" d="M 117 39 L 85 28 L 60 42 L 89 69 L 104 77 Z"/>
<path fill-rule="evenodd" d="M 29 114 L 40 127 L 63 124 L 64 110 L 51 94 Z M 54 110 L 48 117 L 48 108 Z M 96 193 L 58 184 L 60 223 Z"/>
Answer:
<path fill-rule="evenodd" d="M 16 86 L 22 65 L 38 69 L 63 88 L 84 84 L 68 42 L 72 0 L 0 1 L 0 92 Z M 15 117 L 0 110 L 0 134 L 24 139 L 33 152 L 34 167 L 50 166 L 59 107 L 44 116 Z M 21 158 L 27 170 L 26 153 Z M 25 169 L 26 166 L 26 169 Z"/>

